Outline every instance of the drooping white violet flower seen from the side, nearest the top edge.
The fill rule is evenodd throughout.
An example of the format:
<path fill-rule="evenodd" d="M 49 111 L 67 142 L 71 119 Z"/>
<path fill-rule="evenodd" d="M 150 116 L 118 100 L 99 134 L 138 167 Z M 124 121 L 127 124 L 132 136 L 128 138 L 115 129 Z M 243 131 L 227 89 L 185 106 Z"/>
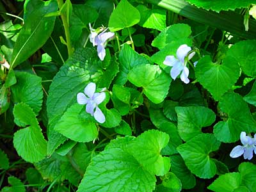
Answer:
<path fill-rule="evenodd" d="M 90 27 L 90 42 L 92 42 L 93 47 L 95 45 L 97 45 L 97 52 L 98 52 L 98 56 L 100 58 L 100 60 L 104 60 L 105 56 L 106 56 L 106 50 L 105 47 L 107 45 L 107 40 L 111 39 L 115 36 L 115 33 L 113 32 L 106 32 L 105 29 L 104 31 L 102 31 L 101 33 L 97 33 L 96 29 L 93 29 L 91 24 L 89 24 Z"/>

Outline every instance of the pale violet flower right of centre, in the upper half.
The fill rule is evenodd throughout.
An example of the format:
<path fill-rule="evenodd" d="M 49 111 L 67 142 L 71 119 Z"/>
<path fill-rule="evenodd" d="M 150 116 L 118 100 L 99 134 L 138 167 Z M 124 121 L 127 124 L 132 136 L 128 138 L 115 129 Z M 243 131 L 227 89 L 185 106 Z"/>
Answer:
<path fill-rule="evenodd" d="M 185 60 L 185 58 L 188 55 L 189 51 L 191 51 L 191 47 L 189 47 L 186 44 L 180 45 L 180 47 L 177 49 L 177 52 L 176 52 L 177 58 L 175 58 L 175 56 L 173 55 L 169 55 L 169 56 L 166 56 L 164 60 L 164 65 L 168 65 L 172 67 L 170 72 L 172 79 L 175 80 L 181 72 L 180 79 L 186 84 L 189 83 L 189 79 L 188 79 L 189 70 L 188 70 L 188 67 L 186 67 L 188 61 Z M 193 58 L 194 55 L 195 55 L 195 52 L 191 52 L 188 55 L 188 60 Z"/>

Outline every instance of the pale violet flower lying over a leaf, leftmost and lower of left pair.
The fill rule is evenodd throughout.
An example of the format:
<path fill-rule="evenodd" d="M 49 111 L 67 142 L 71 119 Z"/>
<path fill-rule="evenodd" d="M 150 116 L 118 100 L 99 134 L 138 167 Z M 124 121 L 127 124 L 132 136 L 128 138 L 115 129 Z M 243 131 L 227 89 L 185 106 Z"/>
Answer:
<path fill-rule="evenodd" d="M 95 90 L 96 84 L 89 83 L 84 88 L 84 93 L 77 93 L 77 102 L 81 105 L 86 104 L 86 112 L 94 116 L 97 122 L 103 124 L 106 118 L 98 105 L 106 98 L 106 94 L 104 92 L 95 93 Z"/>

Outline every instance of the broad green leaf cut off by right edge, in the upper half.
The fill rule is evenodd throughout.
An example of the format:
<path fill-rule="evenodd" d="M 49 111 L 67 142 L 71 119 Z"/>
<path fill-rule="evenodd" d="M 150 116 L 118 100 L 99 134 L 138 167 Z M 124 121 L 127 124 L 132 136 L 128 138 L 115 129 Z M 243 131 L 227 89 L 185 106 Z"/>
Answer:
<path fill-rule="evenodd" d="M 228 56 L 236 58 L 247 76 L 256 77 L 256 41 L 246 40 L 233 45 L 227 52 Z"/>

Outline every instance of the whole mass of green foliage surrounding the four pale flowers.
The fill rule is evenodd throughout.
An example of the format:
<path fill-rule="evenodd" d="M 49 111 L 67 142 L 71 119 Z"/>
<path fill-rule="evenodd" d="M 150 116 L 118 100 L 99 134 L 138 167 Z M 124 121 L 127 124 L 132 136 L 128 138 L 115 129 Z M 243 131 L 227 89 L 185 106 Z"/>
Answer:
<path fill-rule="evenodd" d="M 253 191 L 255 159 L 229 154 L 256 132 L 255 40 L 136 0 L 15 4 L 23 19 L 0 24 L 2 191 Z M 104 61 L 89 23 L 115 32 Z M 184 44 L 196 51 L 189 84 L 163 64 Z M 102 124 L 77 104 L 90 82 L 106 93 Z"/>

